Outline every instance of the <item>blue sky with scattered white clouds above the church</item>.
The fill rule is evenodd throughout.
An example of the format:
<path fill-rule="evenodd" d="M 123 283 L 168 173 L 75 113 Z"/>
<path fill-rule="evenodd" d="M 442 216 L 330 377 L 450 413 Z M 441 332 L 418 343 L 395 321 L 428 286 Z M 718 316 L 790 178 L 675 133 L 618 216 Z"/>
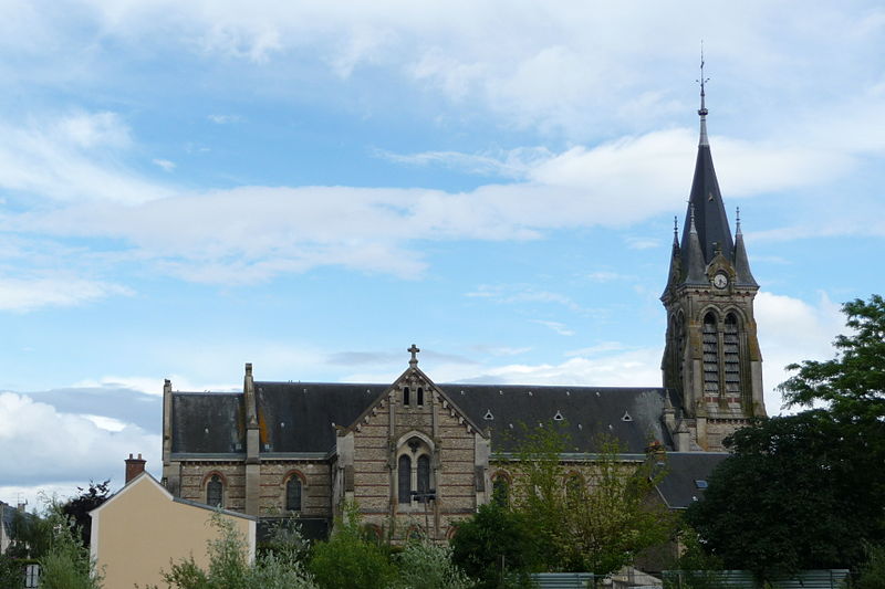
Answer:
<path fill-rule="evenodd" d="M 878 2 L 0 2 L 0 499 L 164 378 L 657 386 L 699 49 L 766 398 L 885 292 Z"/>

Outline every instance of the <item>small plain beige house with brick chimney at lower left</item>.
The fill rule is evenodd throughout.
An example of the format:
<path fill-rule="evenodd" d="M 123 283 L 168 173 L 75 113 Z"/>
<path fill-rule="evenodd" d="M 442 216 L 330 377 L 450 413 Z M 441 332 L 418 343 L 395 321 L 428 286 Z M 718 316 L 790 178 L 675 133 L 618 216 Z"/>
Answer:
<path fill-rule="evenodd" d="M 150 474 L 137 475 L 90 514 L 92 558 L 104 570 L 104 586 L 164 587 L 160 572 L 190 556 L 206 567 L 206 543 L 218 536 L 210 525 L 215 514 L 233 523 L 253 559 L 256 518 L 174 497 Z"/>

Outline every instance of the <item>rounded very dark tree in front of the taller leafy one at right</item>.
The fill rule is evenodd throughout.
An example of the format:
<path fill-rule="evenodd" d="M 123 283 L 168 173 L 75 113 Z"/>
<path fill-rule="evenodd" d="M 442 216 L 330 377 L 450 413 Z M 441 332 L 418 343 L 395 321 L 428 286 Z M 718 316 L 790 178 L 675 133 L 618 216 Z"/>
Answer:
<path fill-rule="evenodd" d="M 763 578 L 858 562 L 882 535 L 882 477 L 823 410 L 759 421 L 736 432 L 735 453 L 686 517 L 727 568 Z"/>

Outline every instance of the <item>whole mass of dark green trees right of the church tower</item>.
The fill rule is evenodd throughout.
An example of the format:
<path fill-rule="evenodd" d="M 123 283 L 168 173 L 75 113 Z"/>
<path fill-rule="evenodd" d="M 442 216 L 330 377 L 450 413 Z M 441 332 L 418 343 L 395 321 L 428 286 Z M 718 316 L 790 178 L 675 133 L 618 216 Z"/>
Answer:
<path fill-rule="evenodd" d="M 836 357 L 808 360 L 779 388 L 788 406 L 824 408 L 736 432 L 689 522 L 727 567 L 762 577 L 856 567 L 885 539 L 885 299 L 843 305 Z M 761 483 L 761 484 L 760 484 Z"/>

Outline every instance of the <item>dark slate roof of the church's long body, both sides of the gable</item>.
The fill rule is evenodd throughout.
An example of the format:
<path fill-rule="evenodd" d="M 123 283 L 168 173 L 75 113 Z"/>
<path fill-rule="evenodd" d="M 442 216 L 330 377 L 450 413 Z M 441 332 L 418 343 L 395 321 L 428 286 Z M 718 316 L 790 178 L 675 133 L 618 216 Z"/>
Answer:
<path fill-rule="evenodd" d="M 256 381 L 261 453 L 327 453 L 334 425 L 351 425 L 389 385 Z M 519 424 L 535 427 L 562 418 L 575 452 L 593 452 L 598 433 L 643 452 L 652 440 L 671 446 L 660 418 L 666 389 L 439 385 L 456 407 L 491 430 L 492 449 L 513 449 Z M 242 454 L 246 448 L 242 393 L 173 393 L 173 453 Z M 671 402 L 677 402 L 671 396 Z M 512 427 L 511 427 L 512 425 Z"/>

